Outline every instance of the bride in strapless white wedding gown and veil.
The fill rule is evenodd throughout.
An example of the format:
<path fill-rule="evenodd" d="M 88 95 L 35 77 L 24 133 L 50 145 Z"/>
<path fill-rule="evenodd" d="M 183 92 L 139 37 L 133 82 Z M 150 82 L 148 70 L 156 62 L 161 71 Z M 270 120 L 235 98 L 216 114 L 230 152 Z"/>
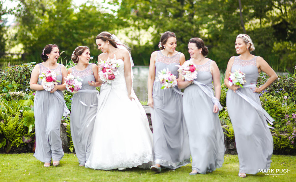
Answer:
<path fill-rule="evenodd" d="M 144 108 L 132 89 L 130 53 L 109 32 L 101 32 L 96 44 L 103 52 L 98 62 L 114 58 L 120 66 L 112 84 L 101 86 L 91 154 L 85 167 L 101 170 L 149 168 L 153 161 L 152 132 Z"/>

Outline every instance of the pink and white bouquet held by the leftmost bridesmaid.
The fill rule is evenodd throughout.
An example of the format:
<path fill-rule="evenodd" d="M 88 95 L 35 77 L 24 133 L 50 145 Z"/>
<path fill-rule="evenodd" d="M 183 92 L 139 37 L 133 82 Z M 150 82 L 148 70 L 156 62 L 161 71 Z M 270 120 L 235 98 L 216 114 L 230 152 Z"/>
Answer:
<path fill-rule="evenodd" d="M 45 71 L 45 73 L 41 73 L 38 78 L 42 79 L 41 85 L 48 92 L 52 91 L 57 82 L 61 82 L 57 80 L 57 74 L 50 69 Z"/>

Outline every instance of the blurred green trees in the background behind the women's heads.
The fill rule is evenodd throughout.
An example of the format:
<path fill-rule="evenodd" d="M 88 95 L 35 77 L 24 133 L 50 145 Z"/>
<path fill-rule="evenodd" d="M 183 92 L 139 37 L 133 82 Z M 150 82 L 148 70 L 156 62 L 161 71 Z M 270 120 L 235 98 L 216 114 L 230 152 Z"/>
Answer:
<path fill-rule="evenodd" d="M 173 31 L 177 50 L 187 59 L 189 39 L 200 37 L 209 47 L 208 57 L 225 69 L 235 54 L 236 35 L 247 33 L 255 43 L 255 55 L 278 71 L 291 71 L 296 52 L 295 8 L 296 0 L 110 0 L 81 5 L 71 0 L 20 0 L 12 9 L 0 3 L 0 15 L 14 14 L 19 23 L 12 36 L 5 36 L 11 29 L 0 23 L 0 52 L 22 45 L 22 59 L 38 63 L 43 47 L 56 43 L 65 51 L 63 57 L 69 58 L 79 45 L 88 45 L 98 55 L 95 36 L 109 31 L 133 48 L 136 65 L 149 65 L 160 35 Z M 1 20 L 5 22 L 4 16 Z"/>

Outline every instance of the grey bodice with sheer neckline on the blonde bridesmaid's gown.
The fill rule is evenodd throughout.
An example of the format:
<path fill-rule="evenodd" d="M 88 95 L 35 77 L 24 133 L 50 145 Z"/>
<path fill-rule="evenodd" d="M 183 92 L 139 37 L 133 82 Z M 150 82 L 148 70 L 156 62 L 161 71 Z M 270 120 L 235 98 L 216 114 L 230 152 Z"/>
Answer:
<path fill-rule="evenodd" d="M 238 56 L 234 57 L 234 62 L 231 66 L 231 72 L 235 72 L 236 70 L 240 70 L 246 74 L 245 78 L 248 84 L 256 84 L 258 78 L 258 68 L 257 68 L 257 56 L 254 56 L 249 61 L 241 60 Z"/>

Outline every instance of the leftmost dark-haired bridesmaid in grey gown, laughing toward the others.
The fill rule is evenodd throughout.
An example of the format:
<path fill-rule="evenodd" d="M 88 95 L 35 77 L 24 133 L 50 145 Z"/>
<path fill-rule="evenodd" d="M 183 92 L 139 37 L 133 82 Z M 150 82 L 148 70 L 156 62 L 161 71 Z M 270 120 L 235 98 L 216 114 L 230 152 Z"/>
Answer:
<path fill-rule="evenodd" d="M 67 70 L 64 65 L 57 63 L 59 48 L 57 45 L 46 45 L 42 51 L 43 63 L 37 64 L 31 74 L 30 88 L 36 90 L 34 100 L 36 150 L 34 156 L 44 162 L 44 167 L 49 167 L 52 161 L 54 166 L 59 165 L 59 160 L 64 156 L 62 140 L 59 130 L 63 113 L 68 111 L 65 106 L 64 77 Z M 52 90 L 46 91 L 38 77 L 42 73 L 51 70 L 57 74 L 57 85 Z M 66 108 L 65 108 L 66 107 Z"/>

